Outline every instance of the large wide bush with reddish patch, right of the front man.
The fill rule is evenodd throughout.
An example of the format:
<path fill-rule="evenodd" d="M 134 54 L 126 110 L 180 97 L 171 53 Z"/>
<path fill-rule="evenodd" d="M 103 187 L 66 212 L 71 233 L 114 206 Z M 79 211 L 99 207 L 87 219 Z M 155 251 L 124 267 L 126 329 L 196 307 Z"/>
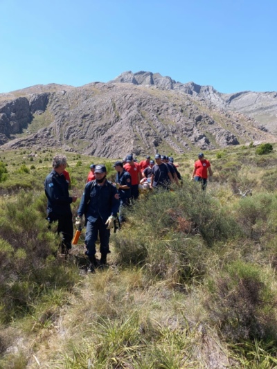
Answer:
<path fill-rule="evenodd" d="M 126 215 L 129 227 L 114 236 L 118 260 L 177 282 L 203 276 L 209 248 L 242 235 L 228 210 L 186 180 L 175 192 L 161 190 L 136 201 Z"/>

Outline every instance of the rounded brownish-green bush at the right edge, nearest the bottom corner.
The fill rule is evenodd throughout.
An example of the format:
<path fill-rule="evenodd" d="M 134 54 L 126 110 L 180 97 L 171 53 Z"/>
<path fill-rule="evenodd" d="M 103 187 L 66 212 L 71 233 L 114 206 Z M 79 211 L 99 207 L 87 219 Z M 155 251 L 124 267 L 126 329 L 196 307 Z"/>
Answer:
<path fill-rule="evenodd" d="M 206 307 L 225 339 L 270 339 L 276 332 L 276 296 L 260 267 L 237 260 L 208 283 Z"/>

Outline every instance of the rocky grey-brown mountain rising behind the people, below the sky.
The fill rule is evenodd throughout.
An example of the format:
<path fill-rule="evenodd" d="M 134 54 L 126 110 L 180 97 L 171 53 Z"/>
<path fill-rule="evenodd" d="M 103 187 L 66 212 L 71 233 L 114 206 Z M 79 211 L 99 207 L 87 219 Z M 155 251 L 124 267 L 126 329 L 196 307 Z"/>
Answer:
<path fill-rule="evenodd" d="M 151 72 L 83 87 L 38 85 L 0 94 L 0 145 L 122 157 L 274 142 L 251 115 L 276 114 L 275 100 L 274 93 L 227 95 Z"/>

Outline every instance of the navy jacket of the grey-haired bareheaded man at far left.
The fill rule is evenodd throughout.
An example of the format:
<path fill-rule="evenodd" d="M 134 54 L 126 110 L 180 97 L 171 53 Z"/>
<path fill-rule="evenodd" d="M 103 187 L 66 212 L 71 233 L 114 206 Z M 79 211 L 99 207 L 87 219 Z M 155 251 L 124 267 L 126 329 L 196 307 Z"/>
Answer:
<path fill-rule="evenodd" d="M 47 214 L 53 217 L 71 214 L 70 204 L 72 197 L 69 196 L 69 183 L 64 174 L 58 174 L 52 170 L 44 181 L 44 191 L 48 199 Z"/>

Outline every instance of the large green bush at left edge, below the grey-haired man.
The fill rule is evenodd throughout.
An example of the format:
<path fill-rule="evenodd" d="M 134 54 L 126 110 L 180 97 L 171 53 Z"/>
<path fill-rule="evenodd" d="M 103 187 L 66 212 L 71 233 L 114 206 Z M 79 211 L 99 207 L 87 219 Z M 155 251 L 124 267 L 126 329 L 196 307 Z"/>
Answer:
<path fill-rule="evenodd" d="M 3 204 L 0 216 L 0 322 L 33 309 L 51 289 L 69 289 L 78 278 L 73 266 L 53 257 L 60 237 L 48 231 L 34 192 L 19 192 Z M 37 202 L 36 202 L 37 201 Z"/>

